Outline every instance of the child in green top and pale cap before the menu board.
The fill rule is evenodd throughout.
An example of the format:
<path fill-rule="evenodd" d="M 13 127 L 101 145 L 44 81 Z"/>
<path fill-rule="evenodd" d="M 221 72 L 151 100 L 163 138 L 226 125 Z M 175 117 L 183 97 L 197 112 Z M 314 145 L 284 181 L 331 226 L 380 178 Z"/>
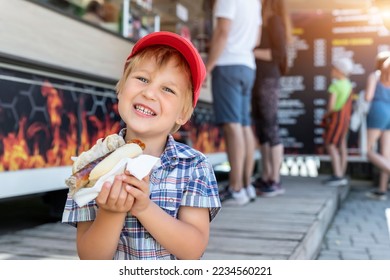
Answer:
<path fill-rule="evenodd" d="M 344 177 L 347 170 L 347 132 L 352 109 L 352 83 L 349 75 L 353 70 L 353 62 L 349 58 L 341 58 L 333 62 L 332 83 L 328 88 L 329 101 L 325 118 L 324 142 L 331 158 L 333 175 L 324 183 L 329 186 L 347 184 Z"/>

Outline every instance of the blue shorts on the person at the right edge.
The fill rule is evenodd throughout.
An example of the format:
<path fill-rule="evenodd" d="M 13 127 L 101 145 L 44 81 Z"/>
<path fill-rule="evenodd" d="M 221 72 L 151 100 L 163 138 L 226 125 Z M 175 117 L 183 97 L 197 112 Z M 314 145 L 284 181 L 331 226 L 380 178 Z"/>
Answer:
<path fill-rule="evenodd" d="M 390 130 L 390 103 L 373 101 L 367 115 L 367 128 Z"/>

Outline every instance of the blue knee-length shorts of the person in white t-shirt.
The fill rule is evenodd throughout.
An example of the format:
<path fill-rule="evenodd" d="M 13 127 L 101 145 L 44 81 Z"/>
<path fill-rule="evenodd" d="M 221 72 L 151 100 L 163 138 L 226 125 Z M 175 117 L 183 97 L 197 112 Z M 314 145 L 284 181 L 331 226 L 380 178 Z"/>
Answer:
<path fill-rule="evenodd" d="M 212 72 L 215 122 L 251 125 L 255 70 L 244 65 L 216 66 Z"/>

